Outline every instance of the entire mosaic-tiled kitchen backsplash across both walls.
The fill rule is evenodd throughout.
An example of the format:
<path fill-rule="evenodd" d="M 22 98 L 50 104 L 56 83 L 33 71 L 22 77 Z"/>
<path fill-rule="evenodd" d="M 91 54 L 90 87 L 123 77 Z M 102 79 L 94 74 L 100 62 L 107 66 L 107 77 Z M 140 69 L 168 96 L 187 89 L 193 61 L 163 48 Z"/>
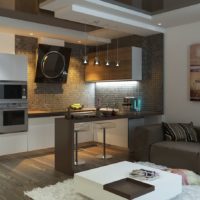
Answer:
<path fill-rule="evenodd" d="M 28 101 L 30 110 L 64 110 L 72 103 L 95 106 L 100 99 L 102 107 L 121 105 L 125 96 L 140 96 L 142 111 L 163 113 L 163 34 L 149 37 L 123 38 L 121 44 L 143 48 L 143 80 L 128 83 L 85 83 L 84 66 L 79 45 L 72 48 L 67 84 L 35 84 L 36 38 L 16 36 L 16 54 L 28 56 Z M 114 41 L 115 44 L 115 41 Z M 114 47 L 113 44 L 113 47 Z M 112 44 L 111 44 L 112 46 Z M 120 66 L 123 67 L 123 66 Z"/>

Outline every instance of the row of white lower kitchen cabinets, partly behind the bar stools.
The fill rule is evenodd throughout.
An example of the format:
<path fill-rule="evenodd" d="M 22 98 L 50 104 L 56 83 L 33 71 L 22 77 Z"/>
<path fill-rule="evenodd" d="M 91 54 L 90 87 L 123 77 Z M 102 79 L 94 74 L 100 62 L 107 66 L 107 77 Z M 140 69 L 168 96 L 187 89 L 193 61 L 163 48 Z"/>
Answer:
<path fill-rule="evenodd" d="M 54 148 L 55 118 L 59 117 L 29 118 L 28 132 L 0 135 L 0 156 Z M 115 125 L 115 128 L 106 129 L 106 144 L 122 148 L 134 148 L 131 147 L 131 141 L 134 139 L 134 128 L 145 124 L 159 123 L 161 122 L 161 116 L 105 120 L 105 122 L 112 122 Z M 95 121 L 86 123 L 89 129 L 78 134 L 78 143 L 91 141 L 102 143 L 103 130 L 95 127 Z"/>

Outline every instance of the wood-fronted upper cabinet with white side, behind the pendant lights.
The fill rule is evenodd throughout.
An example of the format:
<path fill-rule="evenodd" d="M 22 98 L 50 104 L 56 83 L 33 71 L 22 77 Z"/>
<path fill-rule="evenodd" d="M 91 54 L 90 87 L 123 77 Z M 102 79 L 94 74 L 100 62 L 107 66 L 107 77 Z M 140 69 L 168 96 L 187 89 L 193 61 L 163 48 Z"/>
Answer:
<path fill-rule="evenodd" d="M 85 69 L 85 81 L 142 80 L 142 49 L 138 47 L 119 48 L 118 55 L 120 66 L 116 67 L 116 49 L 109 51 L 110 66 L 105 66 L 106 51 L 98 53 L 100 65 L 94 65 L 96 53 L 89 54 L 89 64 Z"/>

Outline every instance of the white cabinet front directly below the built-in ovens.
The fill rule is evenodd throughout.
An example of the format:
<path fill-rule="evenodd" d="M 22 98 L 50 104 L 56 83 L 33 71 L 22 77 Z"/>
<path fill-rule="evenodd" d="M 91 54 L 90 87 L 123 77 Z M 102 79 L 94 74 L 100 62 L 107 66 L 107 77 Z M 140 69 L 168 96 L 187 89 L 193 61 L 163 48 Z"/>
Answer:
<path fill-rule="evenodd" d="M 0 156 L 27 151 L 27 132 L 0 135 Z"/>

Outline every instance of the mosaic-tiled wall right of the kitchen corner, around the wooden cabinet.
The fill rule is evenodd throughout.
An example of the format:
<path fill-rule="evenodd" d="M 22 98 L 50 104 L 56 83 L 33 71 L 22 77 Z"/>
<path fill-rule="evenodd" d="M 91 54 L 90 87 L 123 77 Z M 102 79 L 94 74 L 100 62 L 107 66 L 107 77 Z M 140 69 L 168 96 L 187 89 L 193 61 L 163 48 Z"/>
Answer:
<path fill-rule="evenodd" d="M 96 85 L 96 100 L 101 106 L 123 103 L 125 96 L 141 96 L 142 111 L 163 113 L 163 34 L 145 38 L 123 38 L 131 46 L 143 48 L 143 80 L 137 84 L 108 83 Z M 140 41 L 140 42 L 138 42 Z M 124 44 L 124 42 L 123 42 Z"/>

